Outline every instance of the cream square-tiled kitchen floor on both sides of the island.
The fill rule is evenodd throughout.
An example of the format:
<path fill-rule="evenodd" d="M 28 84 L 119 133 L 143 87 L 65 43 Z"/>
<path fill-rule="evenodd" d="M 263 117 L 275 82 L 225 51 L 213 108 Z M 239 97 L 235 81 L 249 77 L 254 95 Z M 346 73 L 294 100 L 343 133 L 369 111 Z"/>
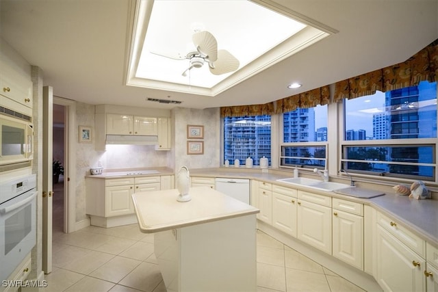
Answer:
<path fill-rule="evenodd" d="M 65 234 L 59 204 L 53 204 L 53 271 L 46 275 L 44 292 L 166 291 L 153 253 L 153 235 L 140 233 L 136 224 L 88 226 Z M 363 289 L 257 231 L 257 291 Z"/>

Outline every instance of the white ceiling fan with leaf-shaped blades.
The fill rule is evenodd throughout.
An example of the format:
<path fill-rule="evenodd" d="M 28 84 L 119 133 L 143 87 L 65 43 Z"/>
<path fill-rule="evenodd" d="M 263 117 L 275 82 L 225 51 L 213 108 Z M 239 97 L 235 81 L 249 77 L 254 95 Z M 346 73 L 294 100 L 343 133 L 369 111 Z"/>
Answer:
<path fill-rule="evenodd" d="M 188 59 L 190 66 L 183 72 L 183 76 L 187 76 L 187 72 L 192 68 L 201 68 L 205 63 L 208 63 L 210 72 L 214 75 L 233 72 L 239 68 L 239 60 L 227 50 L 218 50 L 216 38 L 208 31 L 196 31 L 192 36 L 192 40 L 196 51 L 191 51 L 187 55 L 177 54 L 171 56 L 153 51 L 151 53 L 170 59 Z"/>

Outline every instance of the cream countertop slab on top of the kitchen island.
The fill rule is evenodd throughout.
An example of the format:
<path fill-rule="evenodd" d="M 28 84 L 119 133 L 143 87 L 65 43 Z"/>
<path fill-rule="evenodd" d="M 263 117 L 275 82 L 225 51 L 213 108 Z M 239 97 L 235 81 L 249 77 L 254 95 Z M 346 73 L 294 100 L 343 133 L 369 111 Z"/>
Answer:
<path fill-rule="evenodd" d="M 259 209 L 209 187 L 192 187 L 192 200 L 178 202 L 178 189 L 132 195 L 142 233 L 157 233 L 195 224 L 259 213 Z"/>

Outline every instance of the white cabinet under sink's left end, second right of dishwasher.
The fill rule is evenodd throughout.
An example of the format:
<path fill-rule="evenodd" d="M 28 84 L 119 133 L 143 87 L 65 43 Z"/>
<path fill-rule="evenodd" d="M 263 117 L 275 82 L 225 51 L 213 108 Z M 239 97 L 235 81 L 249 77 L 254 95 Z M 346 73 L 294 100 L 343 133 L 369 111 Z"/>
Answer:
<path fill-rule="evenodd" d="M 272 185 L 272 226 L 296 237 L 297 191 Z"/>

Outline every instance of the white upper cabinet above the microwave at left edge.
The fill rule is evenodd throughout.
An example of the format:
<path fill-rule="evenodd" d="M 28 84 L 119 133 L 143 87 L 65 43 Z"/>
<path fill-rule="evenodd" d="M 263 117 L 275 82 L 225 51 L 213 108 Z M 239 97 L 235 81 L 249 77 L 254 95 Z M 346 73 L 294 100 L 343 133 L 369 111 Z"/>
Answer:
<path fill-rule="evenodd" d="M 32 81 L 5 63 L 1 63 L 1 105 L 22 114 L 32 114 Z M 6 98 L 5 98 L 6 97 Z"/>

